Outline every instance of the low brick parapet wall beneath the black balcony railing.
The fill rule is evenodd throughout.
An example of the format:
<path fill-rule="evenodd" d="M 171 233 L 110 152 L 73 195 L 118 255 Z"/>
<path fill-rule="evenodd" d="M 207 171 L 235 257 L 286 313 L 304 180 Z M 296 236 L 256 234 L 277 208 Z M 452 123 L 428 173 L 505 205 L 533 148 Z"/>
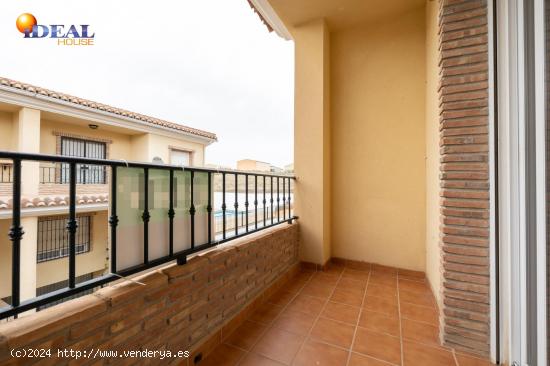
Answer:
<path fill-rule="evenodd" d="M 196 256 L 186 265 L 171 265 L 135 279 L 144 286 L 123 282 L 0 324 L 0 365 L 33 363 L 36 359 L 10 357 L 10 349 L 22 347 L 52 352 L 63 348 L 191 350 L 192 356 L 199 352 L 206 356 L 224 334 L 236 329 L 242 314 L 272 295 L 298 267 L 297 224 L 267 229 Z M 98 360 L 42 361 L 95 365 Z M 180 364 L 182 359 L 173 361 Z M 144 360 L 110 362 L 141 364 Z"/>

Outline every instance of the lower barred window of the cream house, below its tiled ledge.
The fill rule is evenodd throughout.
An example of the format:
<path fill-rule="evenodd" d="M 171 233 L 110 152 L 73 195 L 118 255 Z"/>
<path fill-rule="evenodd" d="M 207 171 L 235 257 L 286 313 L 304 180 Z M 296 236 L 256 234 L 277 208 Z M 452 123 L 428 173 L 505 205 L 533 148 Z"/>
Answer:
<path fill-rule="evenodd" d="M 76 218 L 76 254 L 90 251 L 91 216 Z M 67 216 L 47 217 L 38 219 L 38 251 L 37 262 L 46 262 L 69 255 L 69 232 L 67 231 Z"/>

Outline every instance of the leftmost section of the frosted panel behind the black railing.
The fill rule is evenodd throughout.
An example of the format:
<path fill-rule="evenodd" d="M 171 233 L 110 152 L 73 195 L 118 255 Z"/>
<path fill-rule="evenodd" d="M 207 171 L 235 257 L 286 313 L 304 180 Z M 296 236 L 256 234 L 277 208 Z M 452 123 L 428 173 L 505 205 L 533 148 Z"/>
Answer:
<path fill-rule="evenodd" d="M 117 168 L 117 270 L 143 263 L 143 169 Z"/>

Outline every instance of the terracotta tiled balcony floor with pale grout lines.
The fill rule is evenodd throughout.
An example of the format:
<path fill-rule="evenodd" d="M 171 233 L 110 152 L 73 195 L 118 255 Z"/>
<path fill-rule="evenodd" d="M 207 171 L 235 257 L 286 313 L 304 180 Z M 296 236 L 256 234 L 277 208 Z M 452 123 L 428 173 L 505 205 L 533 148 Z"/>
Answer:
<path fill-rule="evenodd" d="M 201 366 L 490 365 L 439 346 L 437 324 L 432 293 L 413 274 L 302 272 Z"/>

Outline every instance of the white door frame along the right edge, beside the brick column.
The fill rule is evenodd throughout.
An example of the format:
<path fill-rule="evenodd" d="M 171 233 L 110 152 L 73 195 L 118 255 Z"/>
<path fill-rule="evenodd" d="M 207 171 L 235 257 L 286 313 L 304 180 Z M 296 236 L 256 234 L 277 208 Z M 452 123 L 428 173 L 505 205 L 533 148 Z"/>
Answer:
<path fill-rule="evenodd" d="M 527 161 L 524 0 L 497 1 L 497 101 L 500 244 L 500 360 L 526 365 L 529 333 L 536 330 L 538 365 L 546 365 L 546 177 L 544 0 L 534 0 L 535 190 L 526 194 Z M 534 206 L 533 206 L 534 205 Z M 536 206 L 537 322 L 528 324 L 527 208 Z M 532 244 L 531 244 L 532 245 Z"/>

